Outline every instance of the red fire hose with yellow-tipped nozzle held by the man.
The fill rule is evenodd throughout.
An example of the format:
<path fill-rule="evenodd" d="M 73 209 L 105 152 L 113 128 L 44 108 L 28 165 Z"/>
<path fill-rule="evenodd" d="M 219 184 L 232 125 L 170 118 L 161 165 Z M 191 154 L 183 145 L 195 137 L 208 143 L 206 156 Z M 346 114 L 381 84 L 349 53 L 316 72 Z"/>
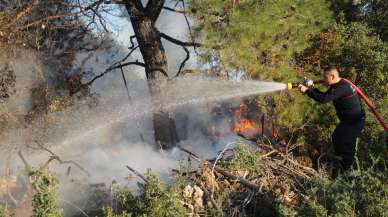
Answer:
<path fill-rule="evenodd" d="M 357 94 L 364 100 L 365 104 L 368 106 L 369 110 L 373 113 L 373 115 L 376 117 L 376 119 L 379 121 L 381 126 L 384 128 L 385 132 L 388 132 L 388 125 L 384 120 L 384 117 L 379 113 L 375 105 L 372 103 L 372 101 L 366 96 L 362 90 L 357 87 L 352 81 L 343 78 L 346 82 L 348 82 L 352 87 L 356 90 Z M 287 89 L 293 89 L 297 88 L 300 84 L 304 86 L 312 86 L 313 84 L 321 84 L 324 83 L 325 81 L 323 80 L 318 80 L 318 81 L 312 81 L 308 78 L 303 78 L 300 82 L 295 82 L 295 83 L 288 83 L 287 84 Z"/>

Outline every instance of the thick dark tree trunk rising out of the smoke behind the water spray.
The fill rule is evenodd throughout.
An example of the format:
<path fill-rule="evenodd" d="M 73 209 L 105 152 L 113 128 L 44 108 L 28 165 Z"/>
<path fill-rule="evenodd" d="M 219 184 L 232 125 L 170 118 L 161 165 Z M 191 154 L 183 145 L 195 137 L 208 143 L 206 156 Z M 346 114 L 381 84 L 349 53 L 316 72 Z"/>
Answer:
<path fill-rule="evenodd" d="M 139 0 L 129 0 L 127 11 L 139 44 L 140 52 L 145 63 L 145 71 L 154 107 L 157 98 L 163 94 L 167 85 L 168 65 L 159 31 L 155 28 L 155 21 L 164 4 L 163 0 L 150 0 L 143 8 Z M 173 112 L 154 111 L 153 113 L 155 141 L 159 147 L 166 149 L 175 146 L 177 133 Z"/>

